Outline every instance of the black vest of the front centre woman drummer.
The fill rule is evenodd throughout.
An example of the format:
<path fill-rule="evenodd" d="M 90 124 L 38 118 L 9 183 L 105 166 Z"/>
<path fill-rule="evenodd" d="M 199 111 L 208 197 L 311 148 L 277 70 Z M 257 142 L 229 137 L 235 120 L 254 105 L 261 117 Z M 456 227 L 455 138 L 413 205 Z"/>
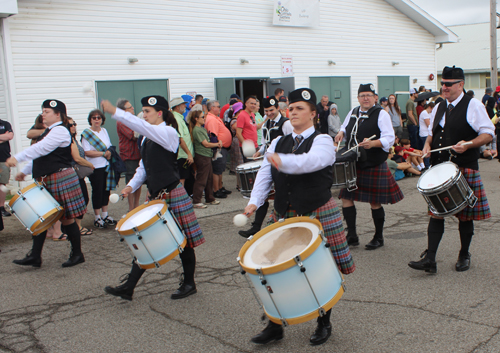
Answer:
<path fill-rule="evenodd" d="M 319 133 L 315 131 L 302 141 L 295 154 L 308 152 L 314 138 L 318 135 Z M 292 134 L 286 135 L 278 141 L 275 151 L 291 153 L 293 142 Z M 332 197 L 330 187 L 333 183 L 333 171 L 331 166 L 306 174 L 285 174 L 271 168 L 271 174 L 276 191 L 274 208 L 280 215 L 284 215 L 289 206 L 299 215 L 312 212 Z"/>

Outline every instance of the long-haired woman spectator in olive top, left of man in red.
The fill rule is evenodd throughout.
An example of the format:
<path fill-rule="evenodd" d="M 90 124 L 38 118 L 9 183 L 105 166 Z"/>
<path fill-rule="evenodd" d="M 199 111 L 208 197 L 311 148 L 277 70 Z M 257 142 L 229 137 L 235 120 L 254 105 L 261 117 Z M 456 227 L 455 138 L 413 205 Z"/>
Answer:
<path fill-rule="evenodd" d="M 196 165 L 196 179 L 193 187 L 193 207 L 207 208 L 206 205 L 218 205 L 220 201 L 214 198 L 213 172 L 212 172 L 212 148 L 222 147 L 222 141 L 209 142 L 207 130 L 203 128 L 205 115 L 202 111 L 191 110 L 189 116 L 189 132 L 194 145 L 194 163 Z M 201 202 L 205 191 L 205 204 Z"/>

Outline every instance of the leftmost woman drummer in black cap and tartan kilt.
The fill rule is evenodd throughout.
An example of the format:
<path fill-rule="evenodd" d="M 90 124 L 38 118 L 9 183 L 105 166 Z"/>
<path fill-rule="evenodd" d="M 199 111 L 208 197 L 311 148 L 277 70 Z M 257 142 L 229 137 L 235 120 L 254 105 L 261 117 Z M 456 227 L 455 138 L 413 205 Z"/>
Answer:
<path fill-rule="evenodd" d="M 71 254 L 62 266 L 71 267 L 85 262 L 81 250 L 80 229 L 75 218 L 85 213 L 86 205 L 78 176 L 72 168 L 72 140 L 67 128 L 66 106 L 61 101 L 48 99 L 42 104 L 42 116 L 43 123 L 48 128 L 38 137 L 38 142 L 9 158 L 6 164 L 14 167 L 18 162 L 33 161 L 16 175 L 16 180 L 23 181 L 27 174 L 33 173 L 33 178 L 43 183 L 47 191 L 64 208 L 61 228 L 71 242 Z M 24 259 L 14 260 L 14 263 L 40 267 L 46 236 L 47 231 L 34 235 L 31 251 Z"/>

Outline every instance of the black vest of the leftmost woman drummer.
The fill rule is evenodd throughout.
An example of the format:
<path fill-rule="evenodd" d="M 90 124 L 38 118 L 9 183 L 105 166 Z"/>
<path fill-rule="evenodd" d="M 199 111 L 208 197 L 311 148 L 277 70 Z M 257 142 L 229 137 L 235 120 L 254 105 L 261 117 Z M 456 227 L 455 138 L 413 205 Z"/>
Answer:
<path fill-rule="evenodd" d="M 59 125 L 58 125 L 59 126 Z M 61 125 L 68 129 L 66 126 Z M 52 129 L 47 129 L 36 142 L 42 141 Z M 68 130 L 68 134 L 71 133 Z M 73 157 L 71 156 L 71 142 L 67 147 L 57 147 L 46 156 L 39 157 L 33 160 L 33 178 L 39 178 L 44 175 L 50 175 L 58 172 L 62 168 L 71 168 Z"/>

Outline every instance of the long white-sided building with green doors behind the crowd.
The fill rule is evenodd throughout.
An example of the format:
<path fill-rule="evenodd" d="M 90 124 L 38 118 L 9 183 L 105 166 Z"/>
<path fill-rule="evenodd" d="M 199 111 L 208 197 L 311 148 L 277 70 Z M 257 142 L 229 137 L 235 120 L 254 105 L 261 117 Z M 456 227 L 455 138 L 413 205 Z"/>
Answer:
<path fill-rule="evenodd" d="M 224 104 L 234 92 L 311 87 L 346 114 L 360 83 L 381 96 L 436 89 L 435 49 L 457 41 L 409 0 L 321 0 L 311 27 L 273 25 L 276 3 L 1 0 L 0 16 L 13 14 L 0 28 L 0 118 L 13 125 L 13 152 L 29 145 L 26 132 L 47 98 L 66 103 L 80 132 L 100 99 L 125 97 L 139 111 L 150 94 L 196 92 Z M 293 76 L 283 77 L 282 57 L 291 57 Z M 114 121 L 105 127 L 117 144 Z"/>

